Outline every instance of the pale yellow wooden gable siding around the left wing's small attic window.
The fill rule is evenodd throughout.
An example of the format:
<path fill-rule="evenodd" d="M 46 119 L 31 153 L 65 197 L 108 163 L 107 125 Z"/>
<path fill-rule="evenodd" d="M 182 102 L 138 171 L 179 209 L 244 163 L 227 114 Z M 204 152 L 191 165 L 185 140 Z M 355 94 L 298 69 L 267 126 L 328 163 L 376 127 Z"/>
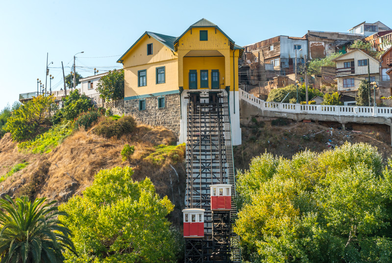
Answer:
<path fill-rule="evenodd" d="M 152 43 L 152 55 L 147 55 L 147 44 Z M 145 35 L 123 58 L 123 67 L 135 67 L 176 59 L 177 55 L 154 38 Z"/>

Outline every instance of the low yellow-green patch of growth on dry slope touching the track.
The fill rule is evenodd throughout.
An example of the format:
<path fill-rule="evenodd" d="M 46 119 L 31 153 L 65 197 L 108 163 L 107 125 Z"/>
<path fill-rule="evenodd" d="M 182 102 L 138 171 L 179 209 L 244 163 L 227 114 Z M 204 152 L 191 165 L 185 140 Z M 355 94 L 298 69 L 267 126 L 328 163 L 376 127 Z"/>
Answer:
<path fill-rule="evenodd" d="M 177 163 L 182 160 L 185 154 L 185 143 L 179 144 L 177 146 L 172 145 L 159 145 L 155 152 L 148 155 L 145 160 L 152 162 L 155 165 L 162 165 L 167 160 L 172 163 Z"/>

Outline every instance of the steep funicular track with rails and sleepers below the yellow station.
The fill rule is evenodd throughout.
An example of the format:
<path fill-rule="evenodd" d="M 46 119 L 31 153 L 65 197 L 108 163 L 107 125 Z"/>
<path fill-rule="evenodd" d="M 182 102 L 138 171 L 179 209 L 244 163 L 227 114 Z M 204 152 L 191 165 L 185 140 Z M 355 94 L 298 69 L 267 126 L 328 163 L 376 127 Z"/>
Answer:
<path fill-rule="evenodd" d="M 228 97 L 189 92 L 187 106 L 187 209 L 204 209 L 204 238 L 186 238 L 186 263 L 241 262 Z M 211 211 L 210 185 L 231 185 L 231 210 Z"/>

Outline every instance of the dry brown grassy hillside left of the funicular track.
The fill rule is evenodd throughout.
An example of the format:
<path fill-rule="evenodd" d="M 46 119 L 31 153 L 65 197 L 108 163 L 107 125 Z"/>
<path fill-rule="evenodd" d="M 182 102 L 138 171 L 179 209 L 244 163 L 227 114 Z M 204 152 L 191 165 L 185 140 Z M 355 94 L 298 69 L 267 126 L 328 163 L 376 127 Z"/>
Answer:
<path fill-rule="evenodd" d="M 184 146 L 166 146 L 175 142 L 174 133 L 163 127 L 138 125 L 131 135 L 105 139 L 95 135 L 94 128 L 75 132 L 47 154 L 19 152 L 10 134 L 5 134 L 0 140 L 0 176 L 18 164 L 28 164 L 1 183 L 1 194 L 47 196 L 65 202 L 73 194 L 81 194 L 100 169 L 129 165 L 134 169 L 134 180 L 149 177 L 157 193 L 171 199 L 176 206 L 171 220 L 179 224 L 185 166 L 184 154 L 177 153 L 185 151 Z M 126 143 L 135 145 L 129 162 L 123 162 L 120 155 Z M 174 151 L 177 155 L 171 154 Z"/>

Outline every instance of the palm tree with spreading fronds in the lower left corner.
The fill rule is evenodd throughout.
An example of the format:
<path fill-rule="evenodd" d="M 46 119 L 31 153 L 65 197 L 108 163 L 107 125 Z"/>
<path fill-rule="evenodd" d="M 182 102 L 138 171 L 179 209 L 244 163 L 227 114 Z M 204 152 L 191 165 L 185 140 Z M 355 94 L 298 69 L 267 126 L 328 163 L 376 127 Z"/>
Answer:
<path fill-rule="evenodd" d="M 0 198 L 0 263 L 60 263 L 62 249 L 75 253 L 71 231 L 58 220 L 67 213 L 58 211 L 56 201 L 45 201 Z"/>

